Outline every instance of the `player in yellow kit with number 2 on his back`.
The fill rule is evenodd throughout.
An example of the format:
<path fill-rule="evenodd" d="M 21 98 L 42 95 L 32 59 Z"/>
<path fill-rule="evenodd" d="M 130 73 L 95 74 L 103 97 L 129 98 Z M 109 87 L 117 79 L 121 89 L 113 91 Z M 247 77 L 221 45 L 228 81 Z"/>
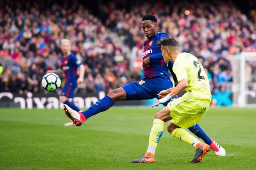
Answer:
<path fill-rule="evenodd" d="M 161 91 L 158 94 L 161 99 L 157 100 L 151 108 L 165 103 L 182 91 L 187 92 L 182 97 L 168 103 L 163 110 L 155 114 L 147 153 L 131 162 L 155 162 L 155 149 L 162 136 L 164 124 L 169 120 L 171 122 L 167 126 L 168 132 L 173 137 L 195 147 L 195 157 L 191 163 L 201 162 L 203 156 L 210 151 L 210 146 L 199 141 L 183 128 L 194 126 L 209 109 L 211 92 L 208 77 L 197 57 L 186 52 L 179 52 L 179 44 L 174 38 L 163 39 L 159 44 L 165 62 L 174 62 L 173 71 L 179 84 L 176 87 Z"/>

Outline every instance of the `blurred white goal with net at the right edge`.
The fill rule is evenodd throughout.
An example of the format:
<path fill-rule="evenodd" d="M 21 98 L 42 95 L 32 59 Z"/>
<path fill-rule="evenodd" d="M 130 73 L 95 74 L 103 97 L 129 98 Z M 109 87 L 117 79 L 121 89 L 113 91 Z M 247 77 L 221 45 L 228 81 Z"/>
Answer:
<path fill-rule="evenodd" d="M 228 57 L 232 67 L 234 106 L 256 107 L 256 52 Z"/>

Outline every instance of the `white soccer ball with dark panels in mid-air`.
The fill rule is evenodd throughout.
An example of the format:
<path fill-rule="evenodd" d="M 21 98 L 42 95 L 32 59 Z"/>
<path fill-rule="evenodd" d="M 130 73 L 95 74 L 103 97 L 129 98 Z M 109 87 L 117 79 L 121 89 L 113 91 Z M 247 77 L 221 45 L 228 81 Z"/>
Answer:
<path fill-rule="evenodd" d="M 54 73 L 48 73 L 42 78 L 42 86 L 48 92 L 55 92 L 61 87 L 61 79 Z"/>

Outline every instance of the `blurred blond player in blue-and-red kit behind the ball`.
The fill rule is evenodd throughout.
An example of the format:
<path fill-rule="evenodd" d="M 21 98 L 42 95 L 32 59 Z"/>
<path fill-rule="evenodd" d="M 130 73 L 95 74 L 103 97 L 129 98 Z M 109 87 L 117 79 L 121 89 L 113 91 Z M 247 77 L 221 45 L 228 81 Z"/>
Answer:
<path fill-rule="evenodd" d="M 77 84 L 83 83 L 85 67 L 81 64 L 80 60 L 77 60 L 77 57 L 70 51 L 70 49 L 70 41 L 67 39 L 61 40 L 61 50 L 63 52 L 63 57 L 61 58 L 61 68 L 57 70 L 48 70 L 46 73 L 60 74 L 64 71 L 66 82 L 61 92 L 61 102 L 68 105 L 75 111 L 82 111 L 73 102 L 70 102 L 69 99 L 73 98 Z M 79 76 L 77 76 L 78 68 Z M 73 124 L 74 122 L 71 121 L 64 125 L 70 126 Z"/>

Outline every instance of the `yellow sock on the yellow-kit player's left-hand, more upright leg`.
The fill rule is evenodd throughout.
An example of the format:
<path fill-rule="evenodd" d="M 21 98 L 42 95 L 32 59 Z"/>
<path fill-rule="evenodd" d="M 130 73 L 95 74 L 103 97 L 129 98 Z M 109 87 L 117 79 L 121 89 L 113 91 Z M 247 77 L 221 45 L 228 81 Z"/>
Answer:
<path fill-rule="evenodd" d="M 157 147 L 160 138 L 163 135 L 163 126 L 165 122 L 160 119 L 154 119 L 152 129 L 150 130 L 149 146 Z"/>

